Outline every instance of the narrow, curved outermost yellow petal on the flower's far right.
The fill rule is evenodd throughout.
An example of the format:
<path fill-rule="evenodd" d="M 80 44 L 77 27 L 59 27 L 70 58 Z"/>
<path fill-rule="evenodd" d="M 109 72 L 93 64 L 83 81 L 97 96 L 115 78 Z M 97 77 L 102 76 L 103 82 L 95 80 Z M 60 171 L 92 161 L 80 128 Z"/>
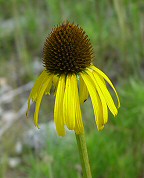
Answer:
<path fill-rule="evenodd" d="M 91 69 L 93 69 L 96 73 L 98 73 L 100 76 L 102 76 L 108 83 L 109 85 L 112 87 L 112 89 L 114 90 L 117 100 L 118 100 L 118 108 L 120 107 L 120 100 L 117 94 L 117 91 L 114 87 L 114 85 L 112 84 L 112 82 L 110 81 L 110 79 L 106 76 L 106 74 L 104 74 L 101 70 L 99 70 L 98 68 L 96 68 L 94 65 L 90 66 Z"/>

